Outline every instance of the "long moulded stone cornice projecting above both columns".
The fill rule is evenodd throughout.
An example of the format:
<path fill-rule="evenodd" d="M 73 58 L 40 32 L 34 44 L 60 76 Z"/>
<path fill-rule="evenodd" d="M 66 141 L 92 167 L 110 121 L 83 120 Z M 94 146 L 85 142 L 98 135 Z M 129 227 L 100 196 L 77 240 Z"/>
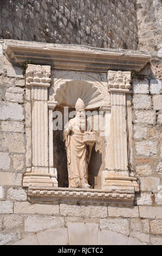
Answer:
<path fill-rule="evenodd" d="M 145 52 L 74 45 L 5 40 L 5 54 L 13 63 L 29 59 L 53 69 L 90 72 L 140 71 L 151 56 Z"/>

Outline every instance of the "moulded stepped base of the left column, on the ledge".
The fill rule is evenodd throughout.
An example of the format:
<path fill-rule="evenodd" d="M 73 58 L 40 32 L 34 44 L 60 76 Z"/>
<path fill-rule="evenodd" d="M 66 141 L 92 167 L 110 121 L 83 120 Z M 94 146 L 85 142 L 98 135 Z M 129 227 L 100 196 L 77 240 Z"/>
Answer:
<path fill-rule="evenodd" d="M 57 175 L 55 173 L 25 173 L 23 176 L 23 187 L 29 186 L 58 187 Z"/>

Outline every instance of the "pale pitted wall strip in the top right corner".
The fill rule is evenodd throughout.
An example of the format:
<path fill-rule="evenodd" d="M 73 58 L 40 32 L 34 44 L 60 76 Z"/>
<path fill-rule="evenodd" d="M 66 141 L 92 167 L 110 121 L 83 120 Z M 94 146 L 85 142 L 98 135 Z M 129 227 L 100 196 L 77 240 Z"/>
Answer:
<path fill-rule="evenodd" d="M 162 44 L 162 1 L 137 0 L 138 48 L 158 51 Z"/>

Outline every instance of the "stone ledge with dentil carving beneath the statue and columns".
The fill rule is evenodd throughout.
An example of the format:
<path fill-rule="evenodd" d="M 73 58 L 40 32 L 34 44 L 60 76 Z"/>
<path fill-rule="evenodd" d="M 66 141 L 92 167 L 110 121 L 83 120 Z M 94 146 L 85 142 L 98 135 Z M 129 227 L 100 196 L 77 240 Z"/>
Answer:
<path fill-rule="evenodd" d="M 34 202 L 98 203 L 133 205 L 134 190 L 95 190 L 64 187 L 29 186 L 29 200 Z"/>

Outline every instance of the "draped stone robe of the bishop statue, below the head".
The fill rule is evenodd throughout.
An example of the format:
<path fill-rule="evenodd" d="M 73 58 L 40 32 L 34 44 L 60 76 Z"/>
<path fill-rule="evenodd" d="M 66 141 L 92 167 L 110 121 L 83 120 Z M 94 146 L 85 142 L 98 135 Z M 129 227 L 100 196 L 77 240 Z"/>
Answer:
<path fill-rule="evenodd" d="M 81 129 L 80 125 L 81 124 Z M 68 121 L 63 131 L 68 163 L 69 187 L 83 187 L 88 185 L 88 153 L 87 145 L 83 142 L 83 132 L 86 123 L 80 123 L 75 117 Z"/>

